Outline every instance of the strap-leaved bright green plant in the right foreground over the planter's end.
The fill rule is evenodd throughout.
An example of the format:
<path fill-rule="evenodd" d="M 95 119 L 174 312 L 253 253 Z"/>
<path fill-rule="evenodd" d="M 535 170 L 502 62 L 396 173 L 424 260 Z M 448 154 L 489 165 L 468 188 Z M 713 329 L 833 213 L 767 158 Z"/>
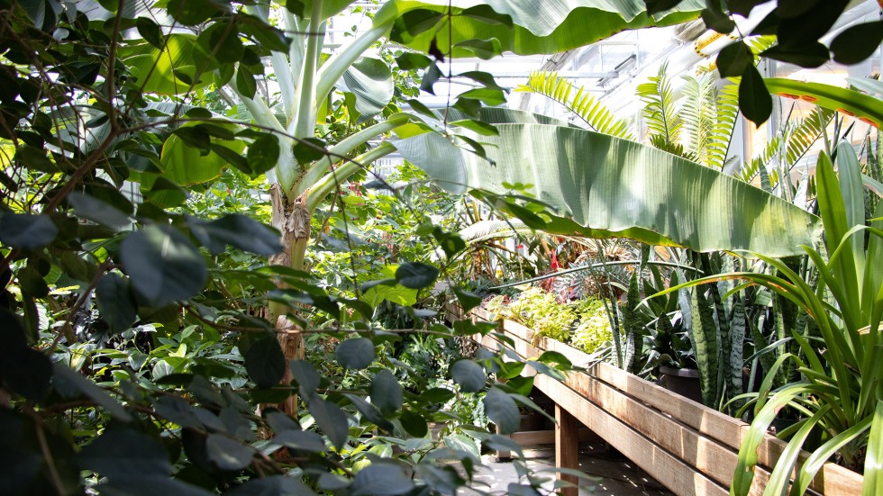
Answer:
<path fill-rule="evenodd" d="M 805 492 L 833 456 L 852 469 L 860 470 L 863 464 L 863 494 L 883 491 L 879 446 L 869 440 L 878 438 L 883 428 L 883 362 L 878 356 L 883 347 L 879 329 L 883 314 L 883 209 L 878 207 L 870 225 L 865 224 L 860 165 L 849 143 L 837 147 L 836 163 L 839 180 L 827 155 L 820 156 L 817 167 L 825 249 L 804 247 L 818 270 L 816 287 L 781 261 L 760 255 L 757 257 L 775 267 L 778 275 L 742 272 L 688 283 L 742 278 L 748 282 L 733 292 L 755 284 L 767 287 L 806 311 L 822 340 L 820 343 L 792 333 L 800 355 L 781 356 L 769 370 L 760 392 L 752 394 L 745 405 L 744 409 L 753 405 L 754 419 L 739 451 L 732 494 L 750 491 L 758 446 L 778 411 L 786 407 L 800 411 L 803 419 L 787 429 L 786 434 L 793 437 L 771 473 L 764 494 L 787 491 L 802 448 L 811 454 L 797 469 L 791 494 Z M 771 390 L 778 368 L 786 361 L 796 366 L 800 380 Z M 812 435 L 818 440 L 811 441 Z"/>

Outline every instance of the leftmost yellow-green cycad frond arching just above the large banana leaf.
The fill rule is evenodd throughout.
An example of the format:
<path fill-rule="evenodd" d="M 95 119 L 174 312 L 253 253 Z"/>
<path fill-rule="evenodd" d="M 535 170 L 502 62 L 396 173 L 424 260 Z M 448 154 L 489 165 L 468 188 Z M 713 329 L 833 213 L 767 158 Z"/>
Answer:
<path fill-rule="evenodd" d="M 576 95 L 570 95 L 576 89 Z M 570 112 L 587 123 L 593 131 L 603 132 L 626 140 L 633 140 L 628 124 L 617 118 L 585 87 L 576 88 L 556 72 L 534 71 L 527 79 L 527 85 L 518 86 L 515 91 L 544 95 L 564 105 Z"/>

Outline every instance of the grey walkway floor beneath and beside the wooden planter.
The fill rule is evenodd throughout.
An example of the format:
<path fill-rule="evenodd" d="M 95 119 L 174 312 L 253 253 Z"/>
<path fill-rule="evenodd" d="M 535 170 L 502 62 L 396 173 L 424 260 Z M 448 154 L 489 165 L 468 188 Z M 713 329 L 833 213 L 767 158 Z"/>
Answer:
<path fill-rule="evenodd" d="M 542 492 L 548 494 L 554 490 L 555 451 L 549 446 L 535 447 L 524 448 L 524 459 L 534 473 L 548 479 L 542 483 L 542 489 L 545 490 Z M 485 467 L 476 476 L 475 485 L 478 489 L 493 494 L 508 494 L 509 484 L 520 480 L 517 463 L 497 462 L 494 455 L 486 455 L 482 461 Z M 580 446 L 579 470 L 591 477 L 591 480 L 580 482 L 585 484 L 579 489 L 580 495 L 674 496 L 631 460 L 614 450 L 608 450 L 602 443 Z M 475 492 L 461 491 L 458 494 L 465 496 Z"/>

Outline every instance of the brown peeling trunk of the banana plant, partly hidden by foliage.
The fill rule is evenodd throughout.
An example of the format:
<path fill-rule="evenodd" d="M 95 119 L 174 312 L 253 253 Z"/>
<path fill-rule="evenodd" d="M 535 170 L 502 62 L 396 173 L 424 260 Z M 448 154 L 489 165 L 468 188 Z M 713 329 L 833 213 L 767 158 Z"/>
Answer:
<path fill-rule="evenodd" d="M 282 233 L 282 251 L 270 257 L 269 262 L 274 266 L 289 266 L 296 270 L 304 270 L 304 257 L 306 244 L 310 239 L 311 214 L 306 206 L 306 194 L 298 196 L 294 202 L 289 203 L 285 194 L 282 194 L 278 184 L 270 186 L 270 202 L 272 204 L 272 225 Z M 285 287 L 285 284 L 280 284 Z M 291 360 L 303 358 L 304 349 L 300 328 L 287 318 L 287 312 L 292 310 L 285 304 L 278 302 L 269 303 L 269 321 L 276 325 L 279 346 L 285 354 L 286 364 Z M 282 383 L 289 384 L 293 376 L 290 367 L 286 367 Z M 289 416 L 296 416 L 297 396 L 289 397 L 279 405 L 280 410 Z"/>

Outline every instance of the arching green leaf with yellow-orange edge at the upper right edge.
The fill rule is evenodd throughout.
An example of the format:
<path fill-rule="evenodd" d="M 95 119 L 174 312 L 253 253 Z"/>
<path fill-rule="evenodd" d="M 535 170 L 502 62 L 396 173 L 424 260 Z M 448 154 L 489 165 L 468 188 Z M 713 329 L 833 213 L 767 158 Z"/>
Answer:
<path fill-rule="evenodd" d="M 883 127 L 883 100 L 855 90 L 822 83 L 804 83 L 782 77 L 763 80 L 769 93 L 803 100 L 855 117 L 875 128 Z"/>

